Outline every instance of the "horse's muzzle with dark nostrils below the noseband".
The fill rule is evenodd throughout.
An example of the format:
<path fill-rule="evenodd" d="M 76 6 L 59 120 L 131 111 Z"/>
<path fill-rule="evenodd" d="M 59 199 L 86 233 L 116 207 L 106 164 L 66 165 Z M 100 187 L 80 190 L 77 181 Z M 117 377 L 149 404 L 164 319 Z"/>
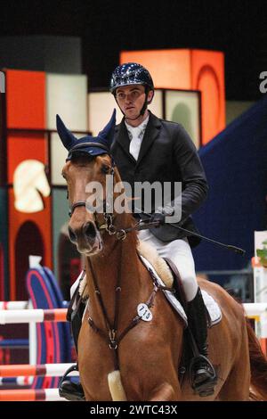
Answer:
<path fill-rule="evenodd" d="M 98 253 L 102 249 L 101 234 L 93 221 L 87 221 L 77 228 L 69 226 L 69 239 L 77 245 L 80 253 Z"/>

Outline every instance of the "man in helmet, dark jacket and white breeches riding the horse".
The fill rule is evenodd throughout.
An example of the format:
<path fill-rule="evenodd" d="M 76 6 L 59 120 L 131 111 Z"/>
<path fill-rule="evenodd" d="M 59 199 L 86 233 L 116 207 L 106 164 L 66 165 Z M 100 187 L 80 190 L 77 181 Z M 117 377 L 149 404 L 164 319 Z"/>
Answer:
<path fill-rule="evenodd" d="M 207 359 L 206 307 L 191 253 L 191 247 L 198 245 L 199 239 L 166 223 L 167 217 L 170 219 L 181 211 L 182 217 L 176 226 L 193 233 L 198 231 L 190 216 L 206 198 L 204 169 L 182 125 L 159 119 L 148 110 L 154 85 L 149 71 L 142 65 L 129 62 L 118 66 L 110 79 L 110 92 L 124 114 L 116 127 L 111 147 L 123 182 L 130 184 L 133 190 L 136 182 L 148 180 L 150 184 L 160 182 L 162 187 L 166 182 L 173 185 L 182 182 L 181 196 L 175 196 L 172 191 L 170 201 L 164 206 L 157 207 L 152 201 L 151 214 L 146 214 L 142 208 L 143 212 L 136 211 L 134 217 L 158 221 L 158 227 L 142 230 L 139 239 L 156 247 L 158 254 L 170 259 L 179 271 L 187 300 L 189 328 L 199 352 L 198 361 L 194 363 L 192 386 L 199 395 L 202 391 L 202 395 L 206 395 L 206 388 L 212 394 L 215 381 L 214 368 Z M 74 334 L 78 334 L 79 327 L 80 321 L 76 319 L 72 325 Z M 83 396 L 81 386 L 64 379 L 61 394 L 68 398 L 68 393 L 75 393 L 77 398 Z"/>

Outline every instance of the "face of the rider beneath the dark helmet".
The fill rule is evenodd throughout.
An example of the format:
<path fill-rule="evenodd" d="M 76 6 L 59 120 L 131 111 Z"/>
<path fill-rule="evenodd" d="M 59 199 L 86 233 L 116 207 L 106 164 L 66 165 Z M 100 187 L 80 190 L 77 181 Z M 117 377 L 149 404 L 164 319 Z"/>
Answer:
<path fill-rule="evenodd" d="M 151 94 L 153 93 L 150 91 L 149 100 Z M 142 85 L 122 86 L 116 90 L 117 103 L 126 119 L 134 119 L 140 115 L 145 97 L 145 88 Z"/>

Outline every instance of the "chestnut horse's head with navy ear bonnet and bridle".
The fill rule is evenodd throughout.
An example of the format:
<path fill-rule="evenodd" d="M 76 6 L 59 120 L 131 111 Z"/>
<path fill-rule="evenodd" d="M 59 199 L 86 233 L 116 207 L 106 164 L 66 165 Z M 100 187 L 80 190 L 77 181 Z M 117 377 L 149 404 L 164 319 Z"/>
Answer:
<path fill-rule="evenodd" d="M 102 250 L 101 230 L 107 226 L 107 175 L 119 181 L 110 145 L 114 136 L 116 111 L 98 136 L 77 139 L 57 115 L 57 130 L 69 154 L 62 169 L 69 195 L 69 238 L 86 256 Z M 114 173 L 115 172 L 115 173 Z M 113 185 L 113 184 L 112 184 Z M 112 187 L 113 192 L 113 187 Z"/>

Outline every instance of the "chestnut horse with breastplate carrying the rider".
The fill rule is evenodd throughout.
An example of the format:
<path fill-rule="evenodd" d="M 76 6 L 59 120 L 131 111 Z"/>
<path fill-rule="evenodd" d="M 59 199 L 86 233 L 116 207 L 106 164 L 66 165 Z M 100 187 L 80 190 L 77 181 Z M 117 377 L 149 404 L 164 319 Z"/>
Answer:
<path fill-rule="evenodd" d="M 160 290 L 150 322 L 134 325 L 136 308 L 150 299 L 153 283 L 137 253 L 129 213 L 93 214 L 85 208 L 85 186 L 113 170 L 109 154 L 79 155 L 67 161 L 71 218 L 69 234 L 85 255 L 89 304 L 78 339 L 78 363 L 86 400 L 111 400 L 108 375 L 119 370 L 127 400 L 247 400 L 249 389 L 267 399 L 267 363 L 242 306 L 222 287 L 199 280 L 222 309 L 222 321 L 208 331 L 209 357 L 217 368 L 214 395 L 199 398 L 177 371 L 184 325 Z M 114 184 L 120 181 L 117 168 Z M 114 199 L 118 193 L 114 193 Z M 128 231 L 127 231 L 128 229 Z M 126 230 L 123 234 L 123 230 Z M 125 239 L 125 240 L 122 240 Z"/>

